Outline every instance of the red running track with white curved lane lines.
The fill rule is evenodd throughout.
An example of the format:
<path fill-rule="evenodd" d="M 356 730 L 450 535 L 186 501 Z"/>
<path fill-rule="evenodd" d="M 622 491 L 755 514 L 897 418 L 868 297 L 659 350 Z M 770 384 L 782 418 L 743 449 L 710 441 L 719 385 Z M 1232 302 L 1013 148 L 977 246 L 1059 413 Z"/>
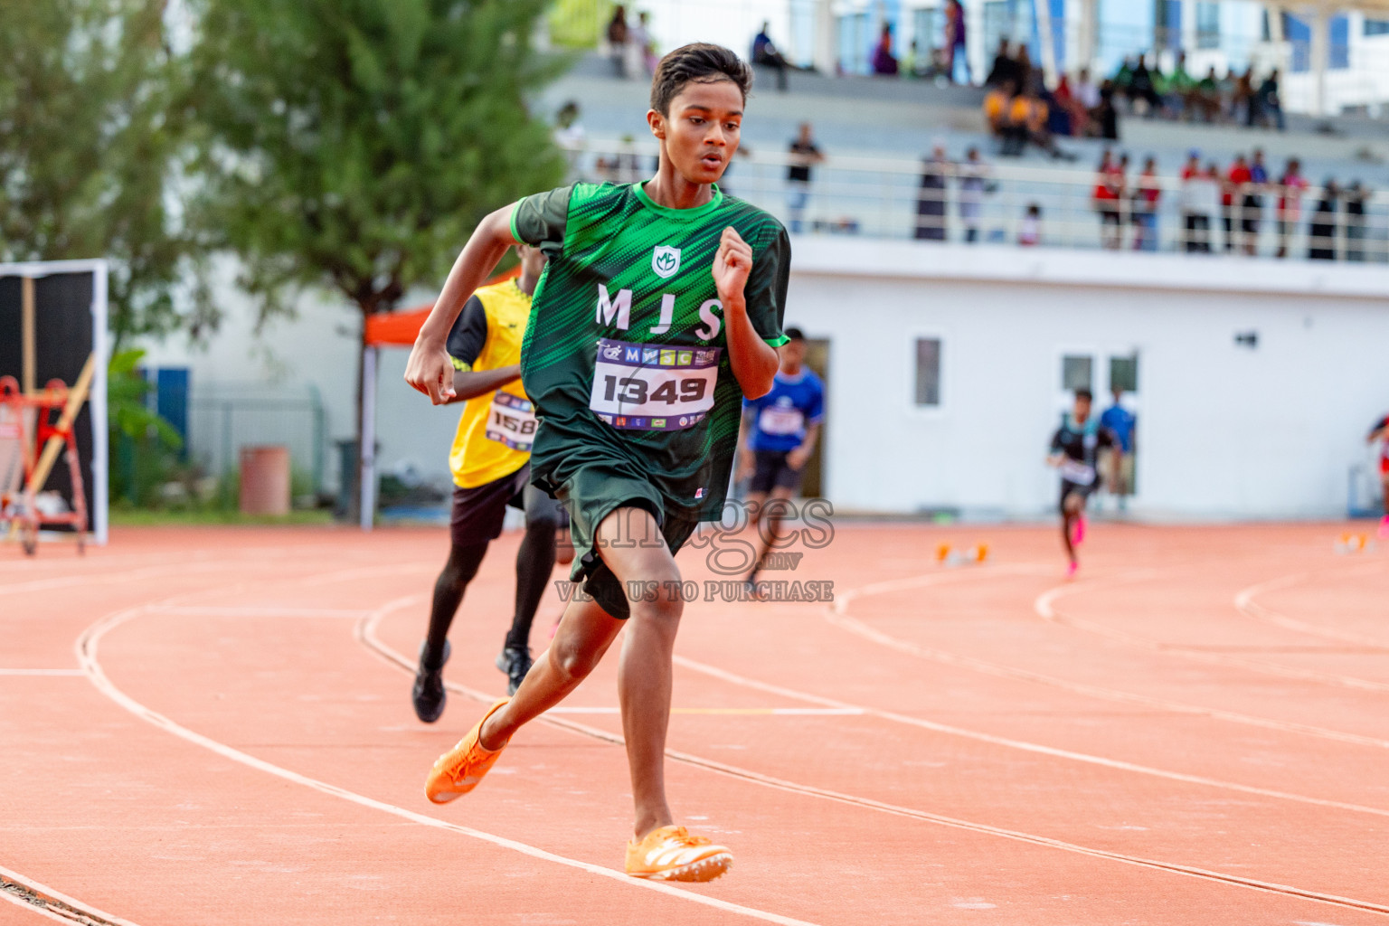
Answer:
<path fill-rule="evenodd" d="M 1389 562 L 1345 529 L 1099 523 L 1068 583 L 1054 530 L 839 525 L 785 573 L 832 605 L 689 605 L 669 787 L 736 855 L 703 886 L 619 870 L 615 658 L 424 800 L 503 689 L 515 536 L 435 726 L 440 530 L 4 548 L 0 925 L 1389 923 Z"/>

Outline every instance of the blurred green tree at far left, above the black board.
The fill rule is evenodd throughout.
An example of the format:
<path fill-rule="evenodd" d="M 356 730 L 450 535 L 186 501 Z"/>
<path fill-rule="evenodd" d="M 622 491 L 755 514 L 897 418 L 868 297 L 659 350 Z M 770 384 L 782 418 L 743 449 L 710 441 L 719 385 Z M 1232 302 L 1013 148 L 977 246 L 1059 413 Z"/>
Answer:
<path fill-rule="evenodd" d="M 215 321 L 174 196 L 182 61 L 165 0 L 42 0 L 0 11 L 0 260 L 111 260 L 117 344 Z M 171 211 L 171 204 L 174 205 Z M 172 214 L 171 214 L 172 212 Z"/>

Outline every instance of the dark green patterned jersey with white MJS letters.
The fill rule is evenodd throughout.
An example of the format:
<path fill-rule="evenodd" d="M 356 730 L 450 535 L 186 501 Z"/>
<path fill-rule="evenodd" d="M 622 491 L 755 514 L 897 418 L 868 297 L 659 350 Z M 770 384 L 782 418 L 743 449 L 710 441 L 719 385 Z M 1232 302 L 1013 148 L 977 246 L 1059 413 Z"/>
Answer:
<path fill-rule="evenodd" d="M 767 212 L 717 186 L 704 205 L 665 208 L 640 183 L 576 183 L 515 205 L 513 236 L 549 257 L 521 348 L 538 486 L 556 491 L 607 462 L 640 473 L 668 510 L 720 516 L 743 398 L 713 276 L 729 226 L 753 249 L 747 317 L 778 347 L 790 243 Z"/>

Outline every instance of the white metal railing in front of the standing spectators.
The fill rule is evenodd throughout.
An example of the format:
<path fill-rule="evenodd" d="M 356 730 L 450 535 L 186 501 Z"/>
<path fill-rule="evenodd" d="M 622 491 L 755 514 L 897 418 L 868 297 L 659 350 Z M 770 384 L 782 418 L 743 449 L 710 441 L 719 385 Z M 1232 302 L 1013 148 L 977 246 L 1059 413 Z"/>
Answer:
<path fill-rule="evenodd" d="M 569 150 L 569 164 L 572 179 L 647 179 L 656 147 L 592 140 Z M 1095 197 L 1099 175 L 1081 168 L 833 154 L 811 167 L 810 183 L 795 183 L 786 179 L 789 165 L 779 151 L 739 155 L 721 186 L 793 233 L 1022 244 L 1035 229 L 1036 240 L 1026 243 L 1047 247 L 1389 262 L 1385 192 L 1364 193 L 1361 214 L 1347 211 L 1345 194 L 1332 200 L 1333 211 L 1318 211 L 1326 192 L 1315 186 L 1301 193 L 1297 207 L 1281 208 L 1276 183 L 1228 190 L 1226 207 L 1224 187 L 1218 194 L 1207 189 L 1200 204 L 1195 190 L 1167 174 L 1151 180 L 1158 197 L 1149 211 L 1132 196 L 1133 171 L 1128 192 L 1101 203 Z M 1033 207 L 1035 222 L 1028 218 Z"/>

